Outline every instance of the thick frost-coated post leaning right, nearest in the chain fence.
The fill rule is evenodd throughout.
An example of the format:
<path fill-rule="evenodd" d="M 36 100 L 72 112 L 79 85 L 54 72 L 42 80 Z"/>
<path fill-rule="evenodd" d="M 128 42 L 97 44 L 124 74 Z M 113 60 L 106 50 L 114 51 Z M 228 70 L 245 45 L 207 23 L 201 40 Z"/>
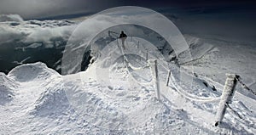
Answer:
<path fill-rule="evenodd" d="M 226 74 L 226 76 L 227 79 L 224 85 L 221 99 L 218 104 L 215 127 L 217 127 L 218 124 L 223 120 L 227 105 L 232 102 L 232 98 L 236 88 L 236 77 L 239 77 L 235 74 Z"/>

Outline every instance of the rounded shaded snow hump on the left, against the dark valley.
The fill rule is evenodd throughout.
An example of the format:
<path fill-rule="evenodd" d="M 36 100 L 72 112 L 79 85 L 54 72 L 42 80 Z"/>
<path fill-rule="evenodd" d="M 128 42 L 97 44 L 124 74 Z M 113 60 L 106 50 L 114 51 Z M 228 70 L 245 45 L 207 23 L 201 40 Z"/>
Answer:
<path fill-rule="evenodd" d="M 59 74 L 47 68 L 42 62 L 17 66 L 8 74 L 8 77 L 17 82 L 44 81 L 51 76 L 59 76 Z"/>

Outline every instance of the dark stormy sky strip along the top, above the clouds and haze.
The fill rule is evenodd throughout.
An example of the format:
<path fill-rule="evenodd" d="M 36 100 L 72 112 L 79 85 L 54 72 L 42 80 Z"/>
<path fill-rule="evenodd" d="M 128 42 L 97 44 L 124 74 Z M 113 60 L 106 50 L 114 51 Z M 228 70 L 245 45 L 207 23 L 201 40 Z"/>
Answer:
<path fill-rule="evenodd" d="M 146 8 L 254 9 L 254 2 L 218 0 L 0 0 L 0 14 L 20 14 L 25 20 L 55 18 L 67 14 L 93 14 L 117 6 Z"/>

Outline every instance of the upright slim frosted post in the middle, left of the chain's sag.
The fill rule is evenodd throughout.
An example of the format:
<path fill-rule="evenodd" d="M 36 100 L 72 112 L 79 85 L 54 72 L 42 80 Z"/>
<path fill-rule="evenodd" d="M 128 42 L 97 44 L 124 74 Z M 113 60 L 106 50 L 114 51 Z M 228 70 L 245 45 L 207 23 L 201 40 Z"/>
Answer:
<path fill-rule="evenodd" d="M 157 70 L 157 61 L 156 59 L 148 59 L 148 64 L 150 65 L 150 69 L 153 75 L 156 98 L 160 100 L 160 84 L 159 84 L 159 77 L 158 77 L 158 70 Z"/>

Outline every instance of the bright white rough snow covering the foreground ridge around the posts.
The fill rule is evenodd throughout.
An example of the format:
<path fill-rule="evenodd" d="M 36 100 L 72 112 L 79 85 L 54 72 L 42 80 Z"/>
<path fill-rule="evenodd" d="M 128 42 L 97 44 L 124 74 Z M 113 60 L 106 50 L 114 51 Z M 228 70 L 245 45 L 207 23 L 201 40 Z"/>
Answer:
<path fill-rule="evenodd" d="M 136 39 L 134 39 L 136 41 Z M 142 43 L 142 42 L 141 42 Z M 147 42 L 143 42 L 147 43 Z M 256 121 L 255 100 L 236 93 L 232 108 L 242 119 L 228 110 L 224 123 L 214 127 L 218 102 L 200 102 L 200 98 L 215 98 L 223 86 L 206 87 L 206 80 L 194 77 L 194 87 L 183 87 L 183 92 L 170 83 L 166 86 L 165 63 L 159 65 L 161 100 L 155 98 L 152 76 L 145 60 L 163 56 L 152 44 L 136 47 L 127 42 L 125 58 L 113 41 L 102 51 L 110 55 L 96 59 L 89 69 L 73 75 L 61 76 L 43 63 L 17 66 L 3 75 L 1 90 L 11 95 L 9 102 L 0 106 L 0 132 L 3 134 L 253 134 Z M 196 45 L 195 45 L 196 48 Z M 200 49 L 199 49 L 200 48 Z M 209 52 L 203 43 L 197 50 Z M 103 52 L 102 52 L 103 53 Z M 134 55 L 137 53 L 138 55 Z M 103 53 L 106 54 L 106 53 Z M 195 59 L 200 59 L 200 54 Z M 209 55 L 206 55 L 209 56 Z M 180 55 L 182 58 L 182 55 Z M 125 62 L 124 59 L 127 61 Z M 187 63 L 186 65 L 188 65 Z M 173 76 L 178 67 L 168 64 Z M 133 70 L 138 68 L 138 70 Z M 144 68 L 140 68 L 144 67 Z M 100 74 L 101 73 L 101 74 Z M 191 76 L 190 73 L 187 76 Z M 200 76 L 201 77 L 201 76 Z M 209 85 L 215 84 L 211 80 Z M 186 82 L 186 80 L 185 80 Z M 222 83 L 223 84 L 223 83 Z M 189 88 L 188 88 L 189 87 Z M 182 93 L 189 93 L 186 97 Z M 4 96 L 5 96 L 4 95 Z M 6 96 L 5 96 L 6 97 Z M 5 101 L 5 99 L 4 99 Z M 2 102 L 2 100 L 1 100 Z"/>

